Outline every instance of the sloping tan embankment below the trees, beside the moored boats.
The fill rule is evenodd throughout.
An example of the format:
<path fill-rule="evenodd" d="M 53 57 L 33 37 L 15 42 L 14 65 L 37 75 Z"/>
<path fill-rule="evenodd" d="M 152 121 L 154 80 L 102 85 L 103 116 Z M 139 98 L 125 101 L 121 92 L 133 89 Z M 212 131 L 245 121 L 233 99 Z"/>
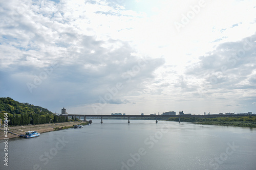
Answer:
<path fill-rule="evenodd" d="M 80 122 L 82 123 L 82 122 Z M 54 128 L 69 127 L 73 125 L 80 124 L 79 122 L 65 122 L 57 124 L 44 124 L 44 125 L 27 125 L 27 126 L 14 126 L 8 127 L 8 137 L 5 137 L 4 128 L 0 129 L 0 140 L 4 138 L 14 138 L 19 137 L 19 135 L 24 135 L 27 131 L 37 131 L 39 133 L 54 131 Z"/>

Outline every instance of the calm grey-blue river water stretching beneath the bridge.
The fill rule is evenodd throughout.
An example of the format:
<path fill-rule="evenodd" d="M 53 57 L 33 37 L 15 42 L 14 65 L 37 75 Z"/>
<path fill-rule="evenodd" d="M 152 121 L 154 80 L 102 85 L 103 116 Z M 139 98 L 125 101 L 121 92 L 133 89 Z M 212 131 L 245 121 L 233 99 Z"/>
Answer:
<path fill-rule="evenodd" d="M 155 120 L 93 120 L 9 139 L 0 169 L 256 169 L 256 129 Z"/>

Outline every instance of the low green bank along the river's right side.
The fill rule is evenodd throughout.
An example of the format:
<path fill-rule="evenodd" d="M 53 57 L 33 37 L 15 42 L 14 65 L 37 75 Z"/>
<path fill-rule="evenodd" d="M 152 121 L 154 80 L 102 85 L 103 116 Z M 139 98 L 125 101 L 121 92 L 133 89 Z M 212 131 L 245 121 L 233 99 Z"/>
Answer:
<path fill-rule="evenodd" d="M 202 116 L 203 117 L 203 116 Z M 178 117 L 170 117 L 168 121 L 178 122 Z M 181 122 L 191 122 L 201 125 L 222 125 L 256 128 L 256 116 L 239 117 L 181 117 Z"/>

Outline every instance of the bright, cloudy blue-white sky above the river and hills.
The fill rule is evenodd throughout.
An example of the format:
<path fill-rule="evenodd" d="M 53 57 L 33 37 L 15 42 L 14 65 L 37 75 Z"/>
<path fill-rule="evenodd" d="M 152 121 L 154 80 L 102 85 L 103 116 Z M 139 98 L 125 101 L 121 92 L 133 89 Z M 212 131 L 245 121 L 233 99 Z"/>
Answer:
<path fill-rule="evenodd" d="M 256 113 L 256 1 L 0 2 L 0 97 L 61 113 Z"/>

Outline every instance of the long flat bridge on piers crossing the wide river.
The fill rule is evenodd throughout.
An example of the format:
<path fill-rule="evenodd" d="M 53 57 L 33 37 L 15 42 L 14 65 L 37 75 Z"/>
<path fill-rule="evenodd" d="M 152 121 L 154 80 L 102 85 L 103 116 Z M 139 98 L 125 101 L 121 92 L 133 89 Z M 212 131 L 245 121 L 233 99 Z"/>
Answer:
<path fill-rule="evenodd" d="M 128 123 L 130 123 L 130 117 L 155 117 L 156 123 L 158 123 L 159 117 L 179 117 L 179 123 L 181 117 L 238 117 L 238 116 L 248 116 L 248 115 L 240 115 L 240 114 L 231 114 L 231 115 L 218 115 L 218 114 L 207 114 L 207 115 L 108 115 L 108 114 L 68 114 L 69 117 L 77 117 L 79 120 L 83 118 L 83 121 L 86 120 L 86 117 L 101 117 L 100 123 L 103 123 L 103 117 L 128 117 Z M 250 116 L 256 116 L 256 114 L 252 114 Z"/>

